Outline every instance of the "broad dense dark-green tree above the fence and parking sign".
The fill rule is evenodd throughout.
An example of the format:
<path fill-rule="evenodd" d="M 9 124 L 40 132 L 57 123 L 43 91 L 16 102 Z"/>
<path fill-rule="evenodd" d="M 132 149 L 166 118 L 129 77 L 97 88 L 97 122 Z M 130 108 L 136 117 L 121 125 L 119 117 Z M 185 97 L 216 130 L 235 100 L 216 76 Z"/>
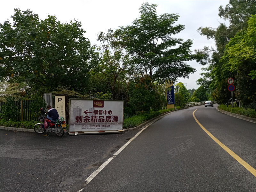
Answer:
<path fill-rule="evenodd" d="M 32 11 L 14 9 L 13 23 L 1 23 L 1 80 L 27 82 L 53 90 L 71 86 L 83 92 L 86 74 L 97 55 L 79 21 L 60 23 L 55 16 L 39 19 Z"/>

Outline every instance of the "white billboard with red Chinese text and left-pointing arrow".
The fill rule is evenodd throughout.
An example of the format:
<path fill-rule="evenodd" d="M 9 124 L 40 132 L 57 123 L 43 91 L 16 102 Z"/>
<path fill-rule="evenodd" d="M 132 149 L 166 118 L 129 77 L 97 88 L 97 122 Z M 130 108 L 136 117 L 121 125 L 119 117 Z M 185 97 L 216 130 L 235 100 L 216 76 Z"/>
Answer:
<path fill-rule="evenodd" d="M 122 130 L 123 100 L 70 99 L 69 132 Z"/>

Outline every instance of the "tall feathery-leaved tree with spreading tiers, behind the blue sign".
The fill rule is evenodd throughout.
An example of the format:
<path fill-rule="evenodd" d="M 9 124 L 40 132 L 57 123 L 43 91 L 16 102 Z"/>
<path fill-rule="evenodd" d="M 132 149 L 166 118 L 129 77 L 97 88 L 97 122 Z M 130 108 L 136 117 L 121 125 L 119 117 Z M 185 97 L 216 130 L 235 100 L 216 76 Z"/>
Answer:
<path fill-rule="evenodd" d="M 140 18 L 133 25 L 121 28 L 125 37 L 123 44 L 131 55 L 132 66 L 140 76 L 148 76 L 152 82 L 165 83 L 188 77 L 196 70 L 187 61 L 201 59 L 202 55 L 192 54 L 192 40 L 173 38 L 185 27 L 174 25 L 176 14 L 156 14 L 156 4 L 144 3 L 140 7 Z"/>

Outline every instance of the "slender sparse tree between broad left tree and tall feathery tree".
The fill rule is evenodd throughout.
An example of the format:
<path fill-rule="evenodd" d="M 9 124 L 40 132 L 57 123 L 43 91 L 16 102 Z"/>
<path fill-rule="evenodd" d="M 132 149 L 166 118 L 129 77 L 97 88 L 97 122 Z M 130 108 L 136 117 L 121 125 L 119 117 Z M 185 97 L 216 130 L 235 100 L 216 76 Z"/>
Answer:
<path fill-rule="evenodd" d="M 105 76 L 113 100 L 118 99 L 120 93 L 124 91 L 122 82 L 126 82 L 128 72 L 129 55 L 122 44 L 116 43 L 121 39 L 120 30 L 114 32 L 112 29 L 108 29 L 106 34 L 100 32 L 97 39 L 100 41 L 97 50 L 100 52 L 101 59 L 96 70 Z"/>

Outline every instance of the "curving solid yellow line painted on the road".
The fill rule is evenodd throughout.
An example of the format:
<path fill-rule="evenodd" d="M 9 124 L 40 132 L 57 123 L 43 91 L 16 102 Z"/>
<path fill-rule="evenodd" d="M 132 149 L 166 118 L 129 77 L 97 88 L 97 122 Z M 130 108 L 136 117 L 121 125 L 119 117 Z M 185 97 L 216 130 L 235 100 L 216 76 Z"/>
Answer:
<path fill-rule="evenodd" d="M 197 109 L 196 109 L 197 110 Z M 196 111 L 195 110 L 195 111 Z M 199 124 L 199 126 L 216 142 L 220 147 L 222 147 L 225 151 L 228 152 L 229 155 L 231 155 L 236 161 L 238 161 L 241 165 L 244 166 L 245 169 L 247 169 L 249 172 L 251 172 L 256 177 L 256 170 L 246 163 L 242 158 L 240 158 L 238 155 L 236 155 L 233 151 L 231 151 L 227 146 L 225 146 L 223 143 L 221 143 L 216 137 L 214 137 L 207 129 L 204 128 L 204 126 L 199 123 L 199 121 L 196 119 L 195 111 L 193 112 L 193 117 L 196 120 L 196 123 Z"/>

